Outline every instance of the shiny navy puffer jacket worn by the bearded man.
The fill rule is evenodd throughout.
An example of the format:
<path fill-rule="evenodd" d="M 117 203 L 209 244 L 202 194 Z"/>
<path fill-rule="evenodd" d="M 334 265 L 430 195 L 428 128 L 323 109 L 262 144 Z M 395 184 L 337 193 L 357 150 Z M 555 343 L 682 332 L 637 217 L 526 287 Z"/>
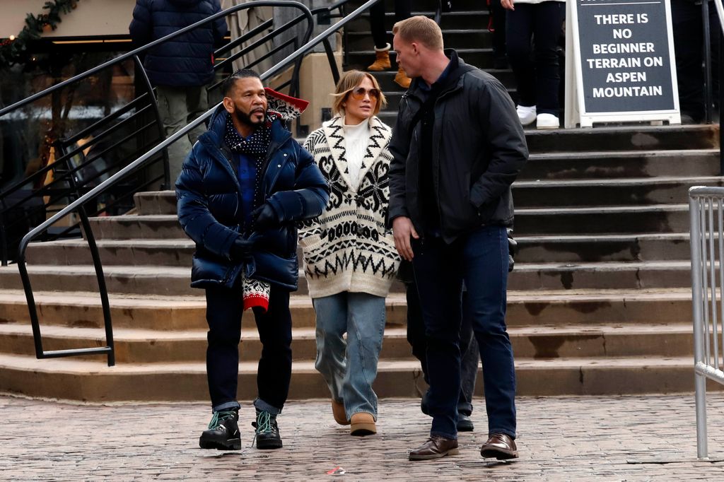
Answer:
<path fill-rule="evenodd" d="M 232 261 L 230 248 L 243 223 L 241 187 L 224 143 L 226 111 L 211 117 L 209 131 L 198 138 L 186 156 L 176 182 L 181 226 L 196 242 L 191 286 L 232 287 L 242 269 L 245 276 L 297 289 L 297 229 L 295 221 L 319 216 L 329 200 L 329 186 L 311 154 L 305 151 L 281 120 L 271 124 L 271 145 L 264 170 L 264 197 L 279 214 L 282 226 L 254 233 L 252 259 Z"/>

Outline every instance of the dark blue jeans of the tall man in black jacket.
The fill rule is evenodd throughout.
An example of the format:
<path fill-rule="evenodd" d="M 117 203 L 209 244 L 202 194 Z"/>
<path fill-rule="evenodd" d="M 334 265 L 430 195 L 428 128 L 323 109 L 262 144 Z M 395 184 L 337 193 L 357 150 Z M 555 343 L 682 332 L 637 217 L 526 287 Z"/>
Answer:
<path fill-rule="evenodd" d="M 460 396 L 463 281 L 483 364 L 489 434 L 515 438 L 515 367 L 505 327 L 508 235 L 487 226 L 450 245 L 429 237 L 413 242 L 413 267 L 427 336 L 431 435 L 456 439 Z"/>

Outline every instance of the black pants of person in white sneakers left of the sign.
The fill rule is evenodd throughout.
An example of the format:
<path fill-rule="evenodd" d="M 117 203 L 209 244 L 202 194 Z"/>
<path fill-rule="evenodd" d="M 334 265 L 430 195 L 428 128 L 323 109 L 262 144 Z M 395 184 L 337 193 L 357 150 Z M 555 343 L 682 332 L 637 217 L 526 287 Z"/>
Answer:
<path fill-rule="evenodd" d="M 505 41 L 518 85 L 518 104 L 536 106 L 538 114 L 558 115 L 557 46 L 564 19 L 563 1 L 515 4 L 515 10 L 505 13 Z"/>

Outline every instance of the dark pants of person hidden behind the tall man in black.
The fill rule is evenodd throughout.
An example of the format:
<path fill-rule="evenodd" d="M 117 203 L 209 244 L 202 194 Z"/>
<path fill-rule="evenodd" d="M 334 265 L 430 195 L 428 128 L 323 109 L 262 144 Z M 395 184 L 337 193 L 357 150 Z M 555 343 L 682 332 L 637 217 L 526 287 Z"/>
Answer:
<path fill-rule="evenodd" d="M 427 370 L 427 339 L 425 337 L 425 324 L 422 319 L 420 297 L 414 283 L 405 284 L 407 289 L 408 305 L 408 342 L 412 347 L 412 354 L 420 360 L 422 373 L 427 384 L 430 383 Z M 463 305 L 465 294 L 463 293 Z M 463 311 L 465 311 L 463 309 Z M 467 314 L 467 313 L 466 313 Z M 475 379 L 478 374 L 479 360 L 478 342 L 473 337 L 473 326 L 470 316 L 463 316 L 460 325 L 460 398 L 458 399 L 458 413 L 470 416 L 473 413 L 473 392 L 475 392 Z"/>

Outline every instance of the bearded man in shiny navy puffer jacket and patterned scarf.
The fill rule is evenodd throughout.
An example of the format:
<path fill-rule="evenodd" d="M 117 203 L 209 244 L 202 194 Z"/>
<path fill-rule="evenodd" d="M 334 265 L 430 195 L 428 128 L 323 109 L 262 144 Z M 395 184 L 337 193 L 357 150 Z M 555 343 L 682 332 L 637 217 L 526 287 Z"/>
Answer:
<path fill-rule="evenodd" d="M 254 401 L 256 447 L 276 449 L 282 447 L 277 415 L 292 373 L 295 221 L 319 216 L 329 187 L 281 114 L 267 110 L 266 95 L 274 91 L 264 89 L 256 72 L 235 72 L 222 92 L 209 132 L 193 145 L 176 182 L 179 221 L 196 242 L 191 286 L 206 289 L 209 323 L 206 373 L 213 417 L 199 445 L 241 447 L 238 345 L 241 315 L 251 306 L 263 345 Z"/>

